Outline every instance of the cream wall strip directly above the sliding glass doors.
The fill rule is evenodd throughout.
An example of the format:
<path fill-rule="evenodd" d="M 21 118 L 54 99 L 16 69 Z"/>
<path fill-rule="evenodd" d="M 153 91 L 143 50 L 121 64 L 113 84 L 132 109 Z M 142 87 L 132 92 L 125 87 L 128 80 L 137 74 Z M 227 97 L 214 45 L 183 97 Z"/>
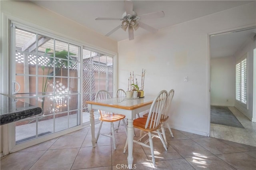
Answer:
<path fill-rule="evenodd" d="M 54 12 L 46 10 L 30 1 L 0 1 L 1 13 L 19 18 L 35 27 L 46 28 L 54 32 L 57 36 L 66 36 L 70 40 L 81 42 L 89 47 L 102 48 L 112 52 L 117 52 L 117 42 L 102 36 L 68 20 Z"/>

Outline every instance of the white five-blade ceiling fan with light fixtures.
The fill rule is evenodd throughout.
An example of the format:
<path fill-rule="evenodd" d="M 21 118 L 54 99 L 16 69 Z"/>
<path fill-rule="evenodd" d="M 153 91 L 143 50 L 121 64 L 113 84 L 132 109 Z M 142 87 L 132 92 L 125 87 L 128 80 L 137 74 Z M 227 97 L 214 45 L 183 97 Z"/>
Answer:
<path fill-rule="evenodd" d="M 133 2 L 131 0 L 124 0 L 124 9 L 125 12 L 122 15 L 122 18 L 96 18 L 95 20 L 120 20 L 122 24 L 108 32 L 105 36 L 110 36 L 112 33 L 117 31 L 119 28 L 122 28 L 124 31 L 128 28 L 129 40 L 134 39 L 134 30 L 137 30 L 139 27 L 149 31 L 149 32 L 157 32 L 158 30 L 144 24 L 140 20 L 144 19 L 152 19 L 152 18 L 160 18 L 164 17 L 163 11 L 152 12 L 148 14 L 142 14 L 137 16 L 137 13 L 133 10 Z"/>

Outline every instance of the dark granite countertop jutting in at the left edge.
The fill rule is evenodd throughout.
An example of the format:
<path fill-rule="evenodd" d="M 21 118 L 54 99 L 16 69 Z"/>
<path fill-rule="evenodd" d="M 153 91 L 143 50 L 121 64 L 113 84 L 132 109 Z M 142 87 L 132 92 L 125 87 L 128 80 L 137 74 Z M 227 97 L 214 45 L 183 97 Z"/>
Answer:
<path fill-rule="evenodd" d="M 40 107 L 0 94 L 0 125 L 19 121 L 42 112 Z"/>

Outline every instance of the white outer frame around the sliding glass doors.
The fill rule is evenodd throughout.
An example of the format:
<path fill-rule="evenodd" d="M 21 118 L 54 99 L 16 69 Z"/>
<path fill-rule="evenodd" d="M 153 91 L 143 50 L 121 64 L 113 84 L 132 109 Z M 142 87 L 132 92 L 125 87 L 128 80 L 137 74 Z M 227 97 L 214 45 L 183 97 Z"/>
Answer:
<path fill-rule="evenodd" d="M 91 46 L 90 44 L 86 43 L 86 42 L 74 42 L 74 40 L 71 40 L 70 37 L 63 35 L 63 34 L 54 34 L 55 32 L 52 30 L 48 30 L 46 28 L 43 28 L 41 26 L 37 26 L 34 25 L 30 22 L 26 22 L 24 20 L 21 20 L 19 18 L 13 17 L 13 16 L 9 16 L 9 15 L 5 15 L 2 14 L 1 15 L 1 39 L 2 39 L 2 43 L 1 43 L 1 56 L 10 56 L 11 55 L 11 51 L 9 51 L 9 47 L 10 47 L 10 23 L 13 22 L 14 24 L 18 24 L 24 28 L 26 28 L 27 30 L 29 30 L 30 28 L 40 32 L 42 34 L 44 34 L 45 36 L 54 36 L 56 38 L 58 38 L 58 40 L 67 40 L 70 43 L 74 43 L 76 45 L 80 46 L 80 53 L 82 55 L 82 49 L 83 47 L 86 47 L 87 49 L 91 49 L 94 51 L 98 51 L 100 53 L 105 53 L 107 55 L 113 56 L 113 91 L 116 91 L 117 88 L 117 53 L 109 51 L 107 49 L 103 49 L 101 47 L 95 47 L 94 45 Z M 0 70 L 1 70 L 1 75 L 3 73 L 6 74 L 6 71 L 8 71 L 8 73 L 6 74 L 6 76 L 1 76 L 1 81 L 4 82 L 1 87 L 0 87 L 0 93 L 5 94 L 5 95 L 9 95 L 11 96 L 12 94 L 10 93 L 10 84 L 11 84 L 11 74 L 12 74 L 12 70 L 11 70 L 11 57 L 0 57 Z M 82 63 L 82 57 L 80 57 L 80 63 Z M 82 79 L 82 64 L 80 64 L 80 78 Z M 81 91 L 81 95 L 80 95 L 80 111 L 82 111 L 82 81 L 80 81 L 80 91 Z M 76 127 L 72 127 L 66 130 L 62 130 L 60 132 L 56 132 L 54 134 L 49 134 L 47 136 L 42 136 L 41 138 L 35 139 L 35 140 L 31 140 L 25 143 L 20 143 L 20 144 L 16 144 L 15 145 L 15 138 L 11 139 L 11 136 L 13 138 L 13 136 L 15 137 L 15 134 L 12 135 L 10 132 L 15 129 L 15 125 L 14 123 L 9 123 L 6 125 L 3 125 L 3 139 L 2 139 L 2 143 L 3 143 L 3 156 L 11 153 L 11 152 L 16 152 L 18 150 L 27 148 L 29 146 L 35 145 L 35 144 L 39 144 L 41 142 L 50 140 L 52 138 L 56 138 L 58 136 L 62 136 L 64 134 L 68 134 L 70 132 L 74 132 L 76 130 L 79 130 L 81 128 L 83 128 L 84 126 L 89 126 L 89 124 L 83 124 L 82 123 L 82 114 L 80 114 L 80 125 L 76 126 Z M 11 134 L 11 135 L 10 135 Z M 14 142 L 13 142 L 14 141 Z"/>

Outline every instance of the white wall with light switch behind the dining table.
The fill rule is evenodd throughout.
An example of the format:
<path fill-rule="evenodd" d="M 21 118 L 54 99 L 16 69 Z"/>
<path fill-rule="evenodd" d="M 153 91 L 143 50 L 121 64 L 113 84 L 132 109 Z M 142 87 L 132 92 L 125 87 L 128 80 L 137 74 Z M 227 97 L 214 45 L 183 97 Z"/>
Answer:
<path fill-rule="evenodd" d="M 255 24 L 255 2 L 177 24 L 156 34 L 118 42 L 118 87 L 126 89 L 130 71 L 146 69 L 145 96 L 174 89 L 174 129 L 209 135 L 209 33 Z M 140 29 L 140 28 L 139 28 Z M 136 36 L 136 32 L 134 32 Z M 188 82 L 184 82 L 188 76 Z"/>

